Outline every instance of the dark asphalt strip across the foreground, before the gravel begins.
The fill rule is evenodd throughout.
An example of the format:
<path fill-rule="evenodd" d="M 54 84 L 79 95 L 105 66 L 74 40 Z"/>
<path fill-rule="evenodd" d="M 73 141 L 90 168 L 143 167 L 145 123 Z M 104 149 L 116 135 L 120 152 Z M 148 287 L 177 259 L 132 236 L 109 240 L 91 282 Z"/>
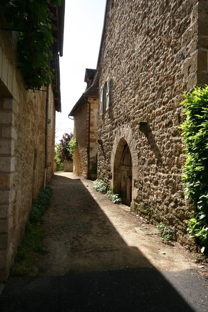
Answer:
<path fill-rule="evenodd" d="M 53 277 L 11 277 L 1 311 L 207 312 L 206 281 L 195 270 L 127 269 Z"/>

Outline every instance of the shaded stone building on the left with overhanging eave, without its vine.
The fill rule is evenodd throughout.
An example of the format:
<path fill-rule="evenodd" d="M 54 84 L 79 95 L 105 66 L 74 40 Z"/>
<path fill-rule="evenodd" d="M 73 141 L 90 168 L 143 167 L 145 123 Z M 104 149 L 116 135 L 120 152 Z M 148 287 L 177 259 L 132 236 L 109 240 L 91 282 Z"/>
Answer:
<path fill-rule="evenodd" d="M 17 68 L 18 32 L 7 30 L 0 6 L 0 281 L 7 280 L 32 200 L 43 188 L 45 169 L 46 181 L 54 171 L 55 111 L 61 111 L 59 55 L 63 51 L 64 1 L 61 7 L 52 4 L 51 10 L 56 24 L 52 32 L 54 78 L 48 92 L 43 87 L 45 92 L 33 92 L 26 90 Z"/>

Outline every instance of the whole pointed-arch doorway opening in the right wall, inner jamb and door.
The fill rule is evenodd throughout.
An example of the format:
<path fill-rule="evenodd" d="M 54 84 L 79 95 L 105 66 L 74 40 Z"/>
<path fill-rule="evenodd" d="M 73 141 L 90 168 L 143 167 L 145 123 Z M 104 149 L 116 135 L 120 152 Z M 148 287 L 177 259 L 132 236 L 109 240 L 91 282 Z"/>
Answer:
<path fill-rule="evenodd" d="M 113 192 L 121 196 L 122 202 L 131 204 L 132 160 L 129 146 L 121 139 L 114 159 Z"/>

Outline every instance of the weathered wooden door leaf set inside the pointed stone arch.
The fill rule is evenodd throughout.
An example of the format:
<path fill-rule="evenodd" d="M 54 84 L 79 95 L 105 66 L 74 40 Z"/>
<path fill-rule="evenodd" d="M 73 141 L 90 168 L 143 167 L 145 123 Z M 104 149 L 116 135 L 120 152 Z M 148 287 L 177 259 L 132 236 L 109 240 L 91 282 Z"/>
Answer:
<path fill-rule="evenodd" d="M 120 163 L 120 196 L 122 202 L 131 204 L 132 160 L 128 144 L 124 145 Z"/>

